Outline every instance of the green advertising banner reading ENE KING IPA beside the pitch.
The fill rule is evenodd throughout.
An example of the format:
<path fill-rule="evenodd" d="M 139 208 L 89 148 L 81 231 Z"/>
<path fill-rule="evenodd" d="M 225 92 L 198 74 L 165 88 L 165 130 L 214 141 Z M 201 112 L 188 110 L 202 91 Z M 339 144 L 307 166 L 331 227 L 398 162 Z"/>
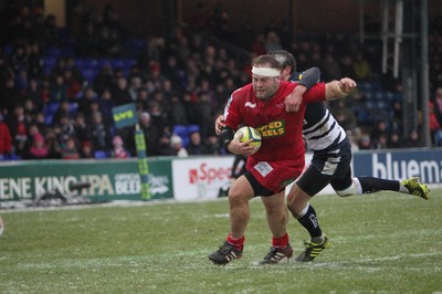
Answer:
<path fill-rule="evenodd" d="M 173 198 L 171 160 L 149 158 L 149 199 Z M 45 192 L 74 193 L 73 183 L 88 182 L 91 201 L 141 200 L 138 159 L 27 160 L 0 165 L 0 201 L 30 200 Z"/>

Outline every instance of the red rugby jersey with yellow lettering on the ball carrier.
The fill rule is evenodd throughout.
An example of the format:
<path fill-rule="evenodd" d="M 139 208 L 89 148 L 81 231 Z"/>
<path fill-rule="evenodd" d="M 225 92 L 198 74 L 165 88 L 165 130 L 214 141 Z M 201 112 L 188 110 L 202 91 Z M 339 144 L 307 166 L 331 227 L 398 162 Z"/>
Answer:
<path fill-rule="evenodd" d="M 297 83 L 280 82 L 270 101 L 256 97 L 252 83 L 236 90 L 224 109 L 224 123 L 234 130 L 240 124 L 256 128 L 262 136 L 257 153 L 251 155 L 257 161 L 304 161 L 303 122 L 306 103 L 325 101 L 325 83 L 317 83 L 303 95 L 299 111 L 286 113 L 284 99 Z"/>

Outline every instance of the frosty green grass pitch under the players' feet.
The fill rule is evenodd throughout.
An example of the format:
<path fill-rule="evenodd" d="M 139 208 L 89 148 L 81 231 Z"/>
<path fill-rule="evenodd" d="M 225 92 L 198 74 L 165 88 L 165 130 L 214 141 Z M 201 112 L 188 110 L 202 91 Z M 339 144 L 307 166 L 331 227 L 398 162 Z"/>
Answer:
<path fill-rule="evenodd" d="M 442 190 L 312 203 L 330 249 L 274 266 L 257 265 L 271 241 L 260 199 L 243 258 L 225 266 L 207 256 L 229 232 L 227 199 L 0 211 L 0 293 L 442 292 Z M 288 228 L 298 254 L 308 235 L 294 219 Z"/>

